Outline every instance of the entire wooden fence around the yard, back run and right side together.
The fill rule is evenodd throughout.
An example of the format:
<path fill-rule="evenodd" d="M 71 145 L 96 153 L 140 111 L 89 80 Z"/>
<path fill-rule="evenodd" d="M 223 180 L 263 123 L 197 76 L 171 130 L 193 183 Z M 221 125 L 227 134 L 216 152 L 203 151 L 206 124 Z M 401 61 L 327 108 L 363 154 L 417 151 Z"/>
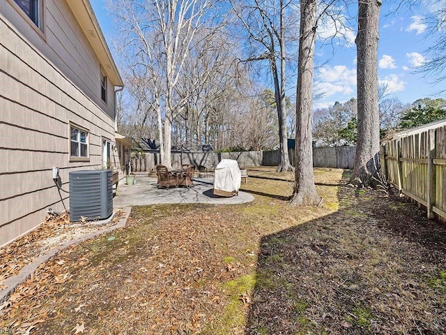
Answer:
<path fill-rule="evenodd" d="M 314 167 L 353 169 L 355 147 L 313 148 Z M 294 164 L 294 151 L 290 150 Z M 214 152 L 174 152 L 172 167 L 182 164 L 215 168 L 223 158 L 235 159 L 240 167 L 275 166 L 280 152 L 244 151 L 217 154 Z M 148 172 L 160 162 L 159 153 L 144 153 L 132 158 L 132 171 Z M 385 142 L 380 149 L 380 162 L 387 180 L 401 193 L 427 208 L 432 218 L 446 218 L 446 125 L 420 128 L 402 133 Z"/>

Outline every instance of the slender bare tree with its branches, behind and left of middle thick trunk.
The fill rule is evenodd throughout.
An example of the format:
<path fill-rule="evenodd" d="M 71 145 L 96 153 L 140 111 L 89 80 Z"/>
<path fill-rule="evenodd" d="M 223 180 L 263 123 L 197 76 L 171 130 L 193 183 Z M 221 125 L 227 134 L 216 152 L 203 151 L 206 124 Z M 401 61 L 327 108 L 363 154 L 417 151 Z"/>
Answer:
<path fill-rule="evenodd" d="M 234 12 L 252 42 L 252 54 L 245 61 L 267 60 L 274 84 L 277 119 L 279 126 L 280 163 L 277 171 L 291 171 L 286 130 L 286 50 L 285 10 L 290 2 L 284 0 L 230 0 Z M 240 6 L 238 6 L 240 5 Z M 255 44 L 255 46 L 254 46 Z"/>

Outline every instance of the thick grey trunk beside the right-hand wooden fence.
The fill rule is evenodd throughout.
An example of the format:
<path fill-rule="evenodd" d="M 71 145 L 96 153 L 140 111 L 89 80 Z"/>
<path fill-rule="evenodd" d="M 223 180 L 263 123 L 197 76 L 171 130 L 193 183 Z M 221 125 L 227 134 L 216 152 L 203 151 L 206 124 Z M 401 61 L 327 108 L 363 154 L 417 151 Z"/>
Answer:
<path fill-rule="evenodd" d="M 379 162 L 378 21 L 381 0 L 360 0 L 357 16 L 357 144 L 355 186 L 383 185 Z"/>

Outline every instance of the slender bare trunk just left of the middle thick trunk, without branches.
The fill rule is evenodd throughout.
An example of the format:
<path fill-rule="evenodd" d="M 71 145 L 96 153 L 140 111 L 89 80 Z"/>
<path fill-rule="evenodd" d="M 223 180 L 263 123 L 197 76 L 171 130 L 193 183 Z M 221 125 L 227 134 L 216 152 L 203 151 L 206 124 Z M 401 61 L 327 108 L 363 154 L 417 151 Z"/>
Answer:
<path fill-rule="evenodd" d="M 280 86 L 276 89 L 277 117 L 279 120 L 280 163 L 277 172 L 293 171 L 288 153 L 288 138 L 286 131 L 286 101 L 285 101 L 285 27 L 284 0 L 280 0 Z M 278 84 L 278 80 L 277 80 Z M 277 97 L 279 99 L 277 100 Z"/>

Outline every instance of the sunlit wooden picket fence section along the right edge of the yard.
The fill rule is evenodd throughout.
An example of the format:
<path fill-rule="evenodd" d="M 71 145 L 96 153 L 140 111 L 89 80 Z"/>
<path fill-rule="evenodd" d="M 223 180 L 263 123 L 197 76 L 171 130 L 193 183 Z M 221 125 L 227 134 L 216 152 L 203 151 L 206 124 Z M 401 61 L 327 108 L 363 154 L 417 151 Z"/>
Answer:
<path fill-rule="evenodd" d="M 404 195 L 446 218 L 446 122 L 401 133 L 381 145 L 385 177 Z"/>

